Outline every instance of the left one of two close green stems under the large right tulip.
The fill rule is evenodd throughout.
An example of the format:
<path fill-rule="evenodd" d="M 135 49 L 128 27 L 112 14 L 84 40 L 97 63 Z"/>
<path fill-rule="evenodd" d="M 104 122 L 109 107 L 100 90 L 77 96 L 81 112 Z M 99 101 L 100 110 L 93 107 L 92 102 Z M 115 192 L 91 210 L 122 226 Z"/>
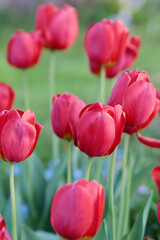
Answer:
<path fill-rule="evenodd" d="M 127 171 L 127 155 L 128 155 L 128 143 L 129 143 L 129 135 L 125 136 L 124 143 L 124 156 L 122 162 L 122 181 L 121 181 L 121 197 L 120 197 L 120 213 L 119 213 L 119 221 L 118 221 L 118 233 L 117 239 L 121 239 L 122 228 L 123 228 L 123 217 L 124 217 L 124 209 L 125 209 L 125 180 L 126 180 L 126 171 Z"/>

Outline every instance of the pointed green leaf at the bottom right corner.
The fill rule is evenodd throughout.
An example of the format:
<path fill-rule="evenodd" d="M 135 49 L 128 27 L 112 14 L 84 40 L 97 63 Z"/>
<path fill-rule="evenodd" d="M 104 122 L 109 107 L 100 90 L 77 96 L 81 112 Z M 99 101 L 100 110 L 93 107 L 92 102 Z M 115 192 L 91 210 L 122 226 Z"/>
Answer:
<path fill-rule="evenodd" d="M 123 236 L 122 240 L 135 240 L 135 239 L 143 240 L 144 239 L 144 233 L 145 233 L 148 213 L 151 205 L 152 195 L 153 193 L 150 194 L 146 203 L 141 208 L 131 231 L 125 236 Z"/>

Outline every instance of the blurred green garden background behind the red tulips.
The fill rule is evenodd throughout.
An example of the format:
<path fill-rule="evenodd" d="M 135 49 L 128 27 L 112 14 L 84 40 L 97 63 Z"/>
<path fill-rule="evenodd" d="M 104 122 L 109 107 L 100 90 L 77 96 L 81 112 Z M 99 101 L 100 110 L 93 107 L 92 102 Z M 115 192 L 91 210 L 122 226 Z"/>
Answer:
<path fill-rule="evenodd" d="M 18 29 L 34 30 L 34 18 L 42 0 L 0 0 L 0 81 L 10 84 L 16 90 L 15 108 L 24 109 L 22 72 L 10 66 L 6 61 L 6 49 L 10 35 Z M 51 2 L 51 1 L 50 1 Z M 83 48 L 84 35 L 87 28 L 102 18 L 120 19 L 130 29 L 131 35 L 140 35 L 142 45 L 139 58 L 132 69 L 145 70 L 150 81 L 160 89 L 160 1 L 159 0 L 55 0 L 57 6 L 65 3 L 75 6 L 79 12 L 80 32 L 74 46 L 66 51 L 55 52 L 56 92 L 69 92 L 77 95 L 87 104 L 97 101 L 98 78 L 92 75 L 88 68 L 87 58 Z M 48 107 L 48 71 L 49 51 L 44 50 L 40 63 L 27 70 L 30 94 L 30 108 L 35 112 L 36 121 L 45 128 L 42 131 L 36 147 L 43 169 L 46 169 L 52 158 L 50 112 Z M 111 81 L 113 85 L 118 77 Z M 106 88 L 106 100 L 109 92 Z M 143 134 L 160 138 L 159 116 Z M 142 205 L 150 188 L 154 188 L 151 180 L 151 169 L 160 161 L 160 150 L 147 148 L 138 143 L 135 138 L 136 162 L 135 176 L 132 186 L 132 221 Z M 61 143 L 63 145 L 63 142 Z M 64 145 L 65 149 L 65 145 Z M 121 166 L 123 156 L 123 139 L 119 148 L 117 169 Z M 6 169 L 6 164 L 2 164 Z M 141 171 L 140 171 L 141 169 Z M 143 169 L 143 171 L 142 171 Z M 8 181 L 7 170 L 6 179 Z M 20 171 L 20 170 L 17 170 Z M 117 178 L 118 179 L 118 178 Z M 118 180 L 117 180 L 118 181 Z M 136 193 L 136 194 L 135 194 Z M 155 202 L 158 195 L 155 191 Z M 152 232 L 152 238 L 158 239 L 158 223 L 156 220 L 156 204 L 152 206 L 147 231 Z M 27 211 L 27 207 L 22 211 Z M 23 212 L 23 214 L 24 214 Z M 153 224 L 154 222 L 154 224 Z"/>

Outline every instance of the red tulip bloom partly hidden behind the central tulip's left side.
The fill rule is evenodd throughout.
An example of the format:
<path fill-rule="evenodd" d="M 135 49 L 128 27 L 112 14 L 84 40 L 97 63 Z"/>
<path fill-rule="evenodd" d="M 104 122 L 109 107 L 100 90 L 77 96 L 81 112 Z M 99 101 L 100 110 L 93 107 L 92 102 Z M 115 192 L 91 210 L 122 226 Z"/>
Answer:
<path fill-rule="evenodd" d="M 79 113 L 85 103 L 73 94 L 56 94 L 52 99 L 51 124 L 54 133 L 66 140 L 76 139 Z"/>

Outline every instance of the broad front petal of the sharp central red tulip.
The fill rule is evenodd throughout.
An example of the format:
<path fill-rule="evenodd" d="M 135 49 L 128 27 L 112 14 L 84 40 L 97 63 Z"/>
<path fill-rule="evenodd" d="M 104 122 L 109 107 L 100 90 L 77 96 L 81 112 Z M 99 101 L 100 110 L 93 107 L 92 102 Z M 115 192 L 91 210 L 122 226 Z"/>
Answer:
<path fill-rule="evenodd" d="M 91 106 L 91 108 L 94 106 Z M 77 126 L 79 149 L 90 157 L 107 154 L 115 136 L 113 118 L 104 111 L 84 112 Z"/>

